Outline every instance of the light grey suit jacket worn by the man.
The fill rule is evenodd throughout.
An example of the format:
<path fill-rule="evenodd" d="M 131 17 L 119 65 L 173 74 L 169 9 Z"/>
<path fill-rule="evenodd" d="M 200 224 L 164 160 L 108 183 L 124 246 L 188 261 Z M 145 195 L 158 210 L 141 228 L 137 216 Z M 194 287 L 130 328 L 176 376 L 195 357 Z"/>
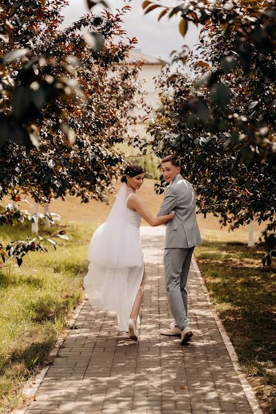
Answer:
<path fill-rule="evenodd" d="M 195 190 L 192 184 L 177 175 L 166 189 L 158 216 L 175 211 L 166 224 L 165 248 L 190 248 L 201 243 L 195 213 Z"/>

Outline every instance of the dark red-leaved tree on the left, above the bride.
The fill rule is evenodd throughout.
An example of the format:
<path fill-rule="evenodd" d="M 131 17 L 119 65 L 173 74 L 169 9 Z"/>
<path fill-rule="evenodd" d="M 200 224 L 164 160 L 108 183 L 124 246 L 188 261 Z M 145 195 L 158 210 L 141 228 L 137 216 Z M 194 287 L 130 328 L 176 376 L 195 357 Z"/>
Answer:
<path fill-rule="evenodd" d="M 67 5 L 1 2 L 0 199 L 106 201 L 124 164 L 117 144 L 130 142 L 139 88 L 125 61 L 137 40 L 121 40 L 129 6 L 61 29 Z"/>

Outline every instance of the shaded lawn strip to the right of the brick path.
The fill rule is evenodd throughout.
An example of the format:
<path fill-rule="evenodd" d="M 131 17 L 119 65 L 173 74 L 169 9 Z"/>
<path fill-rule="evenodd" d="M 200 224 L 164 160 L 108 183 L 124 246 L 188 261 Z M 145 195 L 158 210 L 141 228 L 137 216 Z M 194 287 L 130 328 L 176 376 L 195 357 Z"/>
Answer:
<path fill-rule="evenodd" d="M 276 413 L 275 267 L 262 250 L 208 238 L 195 257 L 242 370 L 266 413 Z M 275 266 L 275 264 L 274 264 Z"/>

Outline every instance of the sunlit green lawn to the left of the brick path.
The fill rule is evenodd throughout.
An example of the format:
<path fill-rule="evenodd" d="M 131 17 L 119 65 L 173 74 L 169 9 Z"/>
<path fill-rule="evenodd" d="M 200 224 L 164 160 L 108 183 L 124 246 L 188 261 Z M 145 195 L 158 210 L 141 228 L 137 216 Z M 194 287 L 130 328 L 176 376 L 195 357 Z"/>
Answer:
<path fill-rule="evenodd" d="M 23 264 L 0 268 L 0 412 L 17 406 L 28 377 L 46 362 L 65 325 L 65 317 L 80 301 L 92 226 L 68 223 L 40 227 L 51 237 L 66 230 L 69 241 L 55 239 L 57 250 L 28 253 Z M 0 240 L 26 239 L 30 224 L 1 226 Z"/>

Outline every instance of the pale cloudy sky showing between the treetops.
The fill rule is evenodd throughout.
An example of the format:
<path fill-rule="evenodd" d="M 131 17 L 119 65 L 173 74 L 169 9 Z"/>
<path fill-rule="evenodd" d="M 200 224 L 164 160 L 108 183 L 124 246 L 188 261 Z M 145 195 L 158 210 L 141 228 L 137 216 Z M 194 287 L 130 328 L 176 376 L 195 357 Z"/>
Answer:
<path fill-rule="evenodd" d="M 132 0 L 125 2 L 124 0 L 106 0 L 110 6 L 111 11 L 116 8 L 122 8 L 128 4 L 132 7 L 124 17 L 123 28 L 128 33 L 128 37 L 137 37 L 137 49 L 146 55 L 161 57 L 166 61 L 170 61 L 170 52 L 172 50 L 181 50 L 181 46 L 188 45 L 193 48 L 198 43 L 198 30 L 193 23 L 190 23 L 186 37 L 183 38 L 178 32 L 178 24 L 180 15 L 172 17 L 168 20 L 163 17 L 161 21 L 157 21 L 160 10 L 153 10 L 144 16 L 141 4 L 143 0 Z M 164 5 L 177 4 L 177 0 L 164 0 Z M 99 13 L 100 6 L 96 6 L 93 12 Z M 72 23 L 77 20 L 83 13 L 88 12 L 86 1 L 84 0 L 70 0 L 70 5 L 63 9 L 65 21 L 64 25 Z"/>

